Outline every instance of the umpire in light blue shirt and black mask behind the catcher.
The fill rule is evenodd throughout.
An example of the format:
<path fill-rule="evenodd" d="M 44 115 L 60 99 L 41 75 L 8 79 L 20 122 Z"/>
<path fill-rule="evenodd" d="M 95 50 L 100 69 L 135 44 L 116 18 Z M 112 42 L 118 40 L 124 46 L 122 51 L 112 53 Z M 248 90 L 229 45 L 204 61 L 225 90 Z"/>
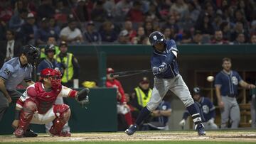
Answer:
<path fill-rule="evenodd" d="M 17 85 L 23 80 L 28 85 L 34 83 L 31 79 L 31 72 L 33 71 L 33 64 L 36 62 L 36 60 L 38 60 L 38 56 L 38 48 L 35 48 L 32 45 L 26 45 L 23 47 L 19 57 L 12 58 L 11 60 L 5 62 L 3 67 L 1 67 L 0 121 L 11 101 L 16 103 L 16 100 L 21 96 L 16 91 Z"/>

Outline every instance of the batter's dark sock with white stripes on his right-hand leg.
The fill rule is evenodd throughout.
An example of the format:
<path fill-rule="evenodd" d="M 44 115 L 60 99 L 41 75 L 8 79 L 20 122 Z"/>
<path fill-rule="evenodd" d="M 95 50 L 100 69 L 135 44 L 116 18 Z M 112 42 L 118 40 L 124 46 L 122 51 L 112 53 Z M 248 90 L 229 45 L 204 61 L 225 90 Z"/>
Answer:
<path fill-rule="evenodd" d="M 195 125 L 202 123 L 199 108 L 195 103 L 188 106 L 187 109 L 188 109 L 188 112 L 191 114 Z"/>

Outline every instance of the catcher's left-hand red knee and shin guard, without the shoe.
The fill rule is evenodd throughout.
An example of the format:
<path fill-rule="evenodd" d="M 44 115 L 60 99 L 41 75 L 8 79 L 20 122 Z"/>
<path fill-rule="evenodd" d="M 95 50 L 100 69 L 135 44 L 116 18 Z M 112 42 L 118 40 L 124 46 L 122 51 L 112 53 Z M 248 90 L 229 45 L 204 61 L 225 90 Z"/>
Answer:
<path fill-rule="evenodd" d="M 23 109 L 21 110 L 21 115 L 19 118 L 18 128 L 23 129 L 26 131 L 32 117 L 33 113 L 36 111 L 37 105 L 34 99 L 26 99 L 23 104 Z"/>

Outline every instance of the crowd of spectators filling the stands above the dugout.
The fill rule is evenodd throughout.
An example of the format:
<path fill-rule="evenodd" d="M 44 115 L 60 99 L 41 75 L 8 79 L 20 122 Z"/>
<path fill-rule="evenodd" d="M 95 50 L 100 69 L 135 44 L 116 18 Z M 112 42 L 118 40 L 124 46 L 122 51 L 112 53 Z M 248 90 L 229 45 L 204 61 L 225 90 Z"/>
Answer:
<path fill-rule="evenodd" d="M 23 44 L 50 36 L 71 44 L 144 44 L 162 31 L 178 44 L 256 43 L 253 0 L 1 0 L 0 40 Z"/>

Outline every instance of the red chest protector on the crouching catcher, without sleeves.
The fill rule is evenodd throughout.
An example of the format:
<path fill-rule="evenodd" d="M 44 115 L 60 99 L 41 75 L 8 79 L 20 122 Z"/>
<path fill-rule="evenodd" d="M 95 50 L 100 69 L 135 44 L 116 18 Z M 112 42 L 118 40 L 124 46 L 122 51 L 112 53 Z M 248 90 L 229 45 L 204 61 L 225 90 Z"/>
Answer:
<path fill-rule="evenodd" d="M 38 101 L 38 113 L 46 113 L 55 103 L 58 94 L 61 91 L 61 85 L 58 89 L 52 89 L 50 92 L 46 92 L 42 87 L 41 82 L 36 82 L 36 100 Z"/>

